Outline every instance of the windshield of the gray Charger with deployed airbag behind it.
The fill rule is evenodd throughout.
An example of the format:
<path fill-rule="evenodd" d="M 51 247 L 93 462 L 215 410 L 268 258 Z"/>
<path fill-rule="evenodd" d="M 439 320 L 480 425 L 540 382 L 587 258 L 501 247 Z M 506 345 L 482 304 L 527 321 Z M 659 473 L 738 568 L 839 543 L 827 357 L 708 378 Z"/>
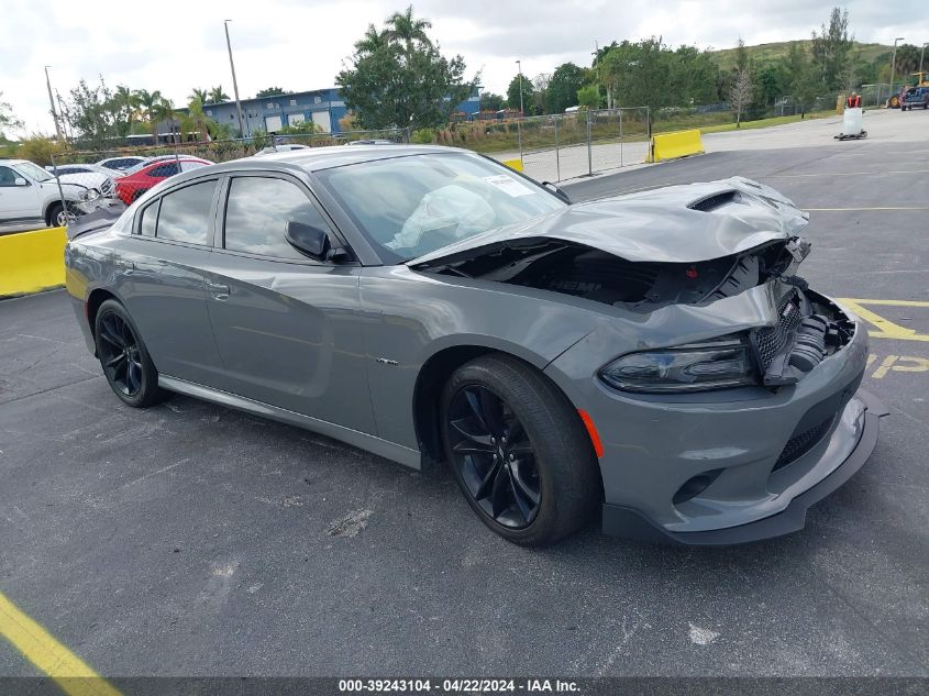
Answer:
<path fill-rule="evenodd" d="M 408 155 L 316 175 L 394 262 L 565 207 L 504 165 L 465 153 Z"/>

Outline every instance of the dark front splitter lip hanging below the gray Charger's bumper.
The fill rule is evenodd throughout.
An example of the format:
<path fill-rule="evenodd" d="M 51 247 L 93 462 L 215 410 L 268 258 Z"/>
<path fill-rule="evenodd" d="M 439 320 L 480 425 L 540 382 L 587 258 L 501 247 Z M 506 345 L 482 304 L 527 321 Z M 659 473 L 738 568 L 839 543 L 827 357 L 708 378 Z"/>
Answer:
<path fill-rule="evenodd" d="M 845 460 L 819 483 L 795 496 L 781 512 L 745 524 L 695 532 L 673 532 L 651 522 L 637 510 L 619 505 L 602 506 L 604 533 L 642 541 L 683 545 L 729 545 L 781 537 L 806 526 L 807 510 L 848 482 L 867 462 L 877 443 L 880 419 L 887 415 L 874 396 L 859 390 L 847 408 L 863 406 L 863 428 Z M 836 435 L 833 435 L 836 437 Z"/>

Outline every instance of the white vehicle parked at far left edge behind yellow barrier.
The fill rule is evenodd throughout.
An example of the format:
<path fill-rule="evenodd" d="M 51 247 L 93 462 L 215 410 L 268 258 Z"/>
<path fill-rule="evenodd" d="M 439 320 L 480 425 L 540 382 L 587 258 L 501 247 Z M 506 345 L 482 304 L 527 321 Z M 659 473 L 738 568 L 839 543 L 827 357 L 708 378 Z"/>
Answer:
<path fill-rule="evenodd" d="M 85 186 L 62 181 L 59 188 L 54 176 L 32 162 L 0 159 L 0 222 L 41 219 L 66 227 L 68 220 L 96 208 L 97 199 L 99 195 Z"/>

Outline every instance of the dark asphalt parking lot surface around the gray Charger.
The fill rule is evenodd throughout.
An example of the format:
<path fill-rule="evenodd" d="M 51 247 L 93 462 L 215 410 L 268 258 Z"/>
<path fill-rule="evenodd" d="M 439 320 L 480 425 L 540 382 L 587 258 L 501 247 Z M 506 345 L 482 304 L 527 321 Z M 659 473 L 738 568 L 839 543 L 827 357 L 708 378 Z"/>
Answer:
<path fill-rule="evenodd" d="M 520 549 L 443 469 L 187 397 L 123 406 L 59 290 L 0 302 L 0 592 L 104 675 L 929 675 L 929 140 L 840 145 L 566 187 L 738 174 L 811 210 L 804 276 L 869 312 L 891 416 L 804 531 Z M 0 675 L 32 674 L 0 641 Z"/>

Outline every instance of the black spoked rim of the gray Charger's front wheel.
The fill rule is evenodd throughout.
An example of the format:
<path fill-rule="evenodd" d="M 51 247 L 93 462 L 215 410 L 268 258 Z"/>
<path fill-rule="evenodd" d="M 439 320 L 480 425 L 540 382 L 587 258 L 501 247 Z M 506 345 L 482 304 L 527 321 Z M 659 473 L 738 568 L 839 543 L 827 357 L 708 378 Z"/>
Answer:
<path fill-rule="evenodd" d="M 496 522 L 521 529 L 541 499 L 535 453 L 522 423 L 489 389 L 469 386 L 452 399 L 450 435 L 468 493 Z"/>

